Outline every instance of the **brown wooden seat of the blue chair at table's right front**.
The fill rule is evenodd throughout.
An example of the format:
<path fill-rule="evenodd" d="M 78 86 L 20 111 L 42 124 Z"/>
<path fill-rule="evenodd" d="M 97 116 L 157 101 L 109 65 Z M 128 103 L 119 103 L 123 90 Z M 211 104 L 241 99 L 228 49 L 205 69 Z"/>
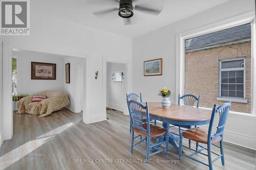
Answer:
<path fill-rule="evenodd" d="M 207 143 L 208 131 L 200 129 L 200 128 L 192 128 L 182 132 L 183 137 L 187 139 L 191 139 L 200 143 Z M 210 143 L 217 143 L 221 141 L 221 136 L 212 139 Z"/>

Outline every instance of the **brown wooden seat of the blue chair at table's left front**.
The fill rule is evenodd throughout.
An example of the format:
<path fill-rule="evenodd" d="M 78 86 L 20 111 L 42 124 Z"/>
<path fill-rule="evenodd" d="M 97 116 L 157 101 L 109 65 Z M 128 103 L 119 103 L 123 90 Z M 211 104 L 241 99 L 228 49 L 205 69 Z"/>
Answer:
<path fill-rule="evenodd" d="M 147 130 L 147 124 L 142 124 L 142 127 Z M 134 128 L 134 132 L 142 135 L 142 136 L 147 136 L 147 133 Z M 163 134 L 165 134 L 165 129 L 161 128 L 159 126 L 155 126 L 155 125 L 150 125 L 150 137 L 157 137 L 157 136 L 162 136 Z"/>

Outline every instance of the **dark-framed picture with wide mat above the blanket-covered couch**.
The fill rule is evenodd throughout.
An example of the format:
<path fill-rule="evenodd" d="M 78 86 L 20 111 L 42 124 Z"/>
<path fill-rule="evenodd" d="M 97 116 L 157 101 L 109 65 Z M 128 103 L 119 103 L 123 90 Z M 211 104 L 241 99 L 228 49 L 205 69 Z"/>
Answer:
<path fill-rule="evenodd" d="M 32 80 L 56 80 L 56 64 L 31 62 Z"/>

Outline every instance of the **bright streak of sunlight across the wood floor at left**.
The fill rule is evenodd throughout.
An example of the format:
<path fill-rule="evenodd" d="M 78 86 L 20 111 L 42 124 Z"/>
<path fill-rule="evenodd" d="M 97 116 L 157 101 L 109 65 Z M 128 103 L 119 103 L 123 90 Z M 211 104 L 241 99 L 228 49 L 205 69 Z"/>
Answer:
<path fill-rule="evenodd" d="M 5 169 L 8 166 L 12 165 L 19 159 L 22 159 L 24 156 L 30 154 L 34 150 L 36 150 L 38 147 L 40 147 L 42 144 L 46 143 L 53 137 L 55 137 L 57 134 L 61 133 L 62 131 L 65 131 L 69 127 L 71 127 L 73 123 L 69 123 L 66 125 L 63 125 L 61 127 L 58 127 L 56 129 L 53 129 L 45 134 L 42 134 L 38 136 L 36 139 L 28 141 L 27 143 L 24 143 L 23 145 L 15 148 L 14 150 L 6 153 L 5 155 L 0 157 L 0 169 Z"/>

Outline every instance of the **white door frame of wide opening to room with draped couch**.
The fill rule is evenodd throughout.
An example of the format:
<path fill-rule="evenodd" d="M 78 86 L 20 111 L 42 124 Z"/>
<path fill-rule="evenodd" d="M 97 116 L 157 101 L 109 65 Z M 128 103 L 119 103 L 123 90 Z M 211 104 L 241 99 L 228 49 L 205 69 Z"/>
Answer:
<path fill-rule="evenodd" d="M 2 41 L 0 41 L 1 43 Z M 19 49 L 17 47 L 14 47 L 11 45 L 11 43 L 8 42 L 2 42 L 2 55 L 0 55 L 0 60 L 3 58 L 3 61 L 0 61 L 0 64 L 2 62 L 3 65 L 3 70 L 0 69 L 0 73 L 2 71 L 3 74 L 1 74 L 0 76 L 3 75 L 3 78 L 0 80 L 3 80 L 3 82 L 1 83 L 0 87 L 2 86 L 2 88 L 0 89 L 0 94 L 1 91 L 3 91 L 3 95 L 2 95 L 2 99 L 0 99 L 0 106 L 2 105 L 2 110 L 0 109 L 0 142 L 3 142 L 4 140 L 8 140 L 11 139 L 13 136 L 13 111 L 12 111 L 12 49 Z M 1 49 L 0 49 L 1 50 Z M 19 49 L 22 50 L 22 49 Z M 24 50 L 24 51 L 31 51 L 31 50 Z M 1 52 L 1 51 L 0 51 Z M 34 52 L 38 52 L 38 53 L 44 53 L 44 52 L 40 52 L 40 51 L 34 51 Z M 50 54 L 50 53 L 48 53 Z M 55 54 L 55 55 L 59 55 L 59 56 L 70 56 L 70 55 L 64 55 L 64 54 Z M 77 56 L 70 56 L 70 57 L 77 57 Z M 88 96 L 88 83 L 89 83 L 89 55 L 86 55 L 84 57 L 78 57 L 78 58 L 83 58 L 85 59 L 85 62 L 83 66 L 85 67 L 85 73 L 86 75 L 83 76 L 83 79 L 85 79 L 85 83 L 83 84 L 84 87 L 84 91 L 83 93 L 85 93 L 86 95 L 84 95 L 84 99 L 83 99 L 83 105 L 82 109 L 83 109 L 83 114 L 82 114 L 82 119 L 83 122 L 85 123 L 85 117 L 86 114 L 90 114 L 90 110 L 88 110 L 89 107 L 89 100 L 87 100 L 89 98 Z M 64 83 L 64 82 L 63 82 Z M 1 97 L 1 96 L 0 96 Z M 2 101 L 2 102 L 1 102 Z M 2 111 L 2 117 L 1 117 L 1 111 Z M 1 119 L 2 118 L 2 119 Z M 3 128 L 1 130 L 1 123 L 3 124 Z M 1 139 L 2 138 L 2 139 Z M 2 140 L 2 141 L 1 141 Z M 1 145 L 2 143 L 0 143 Z"/>

